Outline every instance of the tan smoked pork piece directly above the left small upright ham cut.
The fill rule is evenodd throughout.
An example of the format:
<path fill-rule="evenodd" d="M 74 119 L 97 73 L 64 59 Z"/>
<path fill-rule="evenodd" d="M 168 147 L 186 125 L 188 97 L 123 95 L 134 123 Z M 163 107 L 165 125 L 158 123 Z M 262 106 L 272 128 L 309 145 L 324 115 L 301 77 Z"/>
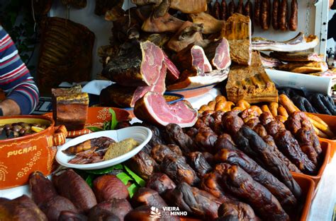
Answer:
<path fill-rule="evenodd" d="M 202 25 L 196 25 L 187 20 L 169 40 L 167 47 L 174 52 L 179 52 L 189 44 L 199 44 L 203 42 L 202 30 Z"/>

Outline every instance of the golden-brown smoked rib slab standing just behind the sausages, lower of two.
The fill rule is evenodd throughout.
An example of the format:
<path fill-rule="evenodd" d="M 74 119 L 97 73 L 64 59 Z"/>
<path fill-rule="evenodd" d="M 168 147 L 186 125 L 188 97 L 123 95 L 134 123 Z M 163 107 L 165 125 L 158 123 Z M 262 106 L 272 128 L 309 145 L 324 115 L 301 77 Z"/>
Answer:
<path fill-rule="evenodd" d="M 231 66 L 226 92 L 228 100 L 233 102 L 278 102 L 278 91 L 264 70 L 258 52 L 252 52 L 251 66 Z"/>

